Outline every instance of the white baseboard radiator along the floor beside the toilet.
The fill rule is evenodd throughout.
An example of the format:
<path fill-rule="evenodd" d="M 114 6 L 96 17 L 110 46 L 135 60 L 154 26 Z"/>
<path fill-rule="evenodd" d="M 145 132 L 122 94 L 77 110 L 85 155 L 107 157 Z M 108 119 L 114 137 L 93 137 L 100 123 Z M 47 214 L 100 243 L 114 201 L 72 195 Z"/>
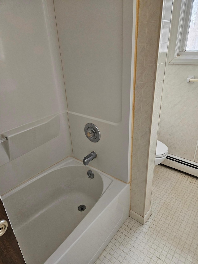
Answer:
<path fill-rule="evenodd" d="M 168 154 L 162 164 L 198 177 L 198 163 Z"/>

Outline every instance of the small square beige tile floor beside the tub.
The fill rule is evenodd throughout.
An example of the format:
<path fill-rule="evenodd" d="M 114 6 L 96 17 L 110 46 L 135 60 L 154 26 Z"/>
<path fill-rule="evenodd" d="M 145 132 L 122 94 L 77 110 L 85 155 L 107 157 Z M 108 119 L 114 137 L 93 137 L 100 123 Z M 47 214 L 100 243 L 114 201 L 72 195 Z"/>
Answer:
<path fill-rule="evenodd" d="M 198 264 L 198 178 L 156 166 L 151 208 L 144 226 L 129 217 L 95 264 Z"/>

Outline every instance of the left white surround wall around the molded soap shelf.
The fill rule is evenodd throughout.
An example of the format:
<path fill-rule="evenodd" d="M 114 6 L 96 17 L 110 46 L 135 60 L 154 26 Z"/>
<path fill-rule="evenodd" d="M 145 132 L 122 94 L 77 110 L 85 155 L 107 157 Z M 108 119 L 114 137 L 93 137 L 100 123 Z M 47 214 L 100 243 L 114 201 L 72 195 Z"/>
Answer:
<path fill-rule="evenodd" d="M 12 161 L 1 144 L 0 194 L 72 155 L 52 0 L 0 2 L 0 113 L 0 134 L 60 119 L 58 136 Z"/>

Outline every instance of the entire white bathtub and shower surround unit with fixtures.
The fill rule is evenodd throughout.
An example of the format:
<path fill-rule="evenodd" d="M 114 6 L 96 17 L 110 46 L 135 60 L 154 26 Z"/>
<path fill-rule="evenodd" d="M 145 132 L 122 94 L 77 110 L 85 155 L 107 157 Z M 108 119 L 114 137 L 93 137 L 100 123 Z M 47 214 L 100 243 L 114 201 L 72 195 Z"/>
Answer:
<path fill-rule="evenodd" d="M 0 195 L 19 247 L 26 264 L 94 263 L 129 216 L 136 1 L 0 12 Z"/>

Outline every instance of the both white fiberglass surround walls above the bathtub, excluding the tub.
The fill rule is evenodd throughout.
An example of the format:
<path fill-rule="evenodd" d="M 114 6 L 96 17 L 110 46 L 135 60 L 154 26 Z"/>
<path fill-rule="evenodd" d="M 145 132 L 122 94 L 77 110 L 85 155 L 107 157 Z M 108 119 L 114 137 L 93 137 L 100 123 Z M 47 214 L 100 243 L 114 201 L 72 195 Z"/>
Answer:
<path fill-rule="evenodd" d="M 130 0 L 1 1 L 1 194 L 92 151 L 90 165 L 130 181 L 134 18 Z"/>

